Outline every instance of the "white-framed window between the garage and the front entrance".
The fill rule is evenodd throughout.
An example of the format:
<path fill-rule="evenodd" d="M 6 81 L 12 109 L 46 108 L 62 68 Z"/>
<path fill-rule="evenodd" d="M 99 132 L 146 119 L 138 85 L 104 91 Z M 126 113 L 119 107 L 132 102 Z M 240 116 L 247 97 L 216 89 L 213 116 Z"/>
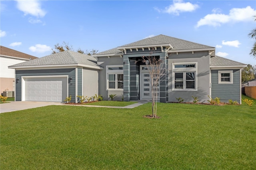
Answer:
<path fill-rule="evenodd" d="M 122 65 L 107 66 L 107 90 L 122 90 L 124 88 L 124 74 Z"/>

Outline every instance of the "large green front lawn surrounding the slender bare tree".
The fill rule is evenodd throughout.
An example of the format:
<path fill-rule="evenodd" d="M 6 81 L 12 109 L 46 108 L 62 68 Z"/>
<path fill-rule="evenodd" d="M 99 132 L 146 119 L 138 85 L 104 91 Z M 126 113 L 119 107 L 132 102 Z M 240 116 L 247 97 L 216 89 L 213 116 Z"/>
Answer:
<path fill-rule="evenodd" d="M 1 113 L 1 169 L 256 169 L 255 103 L 158 103 L 161 118 L 143 118 L 150 111 L 151 103 Z"/>

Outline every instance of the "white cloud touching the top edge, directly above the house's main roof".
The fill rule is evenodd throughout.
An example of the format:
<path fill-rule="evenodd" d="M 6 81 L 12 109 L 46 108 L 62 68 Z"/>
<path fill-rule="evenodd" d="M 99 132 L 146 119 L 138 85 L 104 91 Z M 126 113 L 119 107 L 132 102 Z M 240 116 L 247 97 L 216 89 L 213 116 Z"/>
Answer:
<path fill-rule="evenodd" d="M 173 4 L 165 7 L 164 10 L 155 8 L 158 12 L 164 12 L 168 14 L 180 15 L 181 12 L 192 12 L 199 8 L 197 4 L 191 4 L 190 2 L 183 2 L 182 0 L 174 0 Z"/>

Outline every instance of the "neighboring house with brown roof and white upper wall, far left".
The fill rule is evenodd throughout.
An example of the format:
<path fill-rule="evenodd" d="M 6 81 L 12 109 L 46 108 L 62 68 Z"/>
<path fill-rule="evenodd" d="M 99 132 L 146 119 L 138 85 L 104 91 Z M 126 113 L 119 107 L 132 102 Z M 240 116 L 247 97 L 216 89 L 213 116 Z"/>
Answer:
<path fill-rule="evenodd" d="M 14 91 L 15 89 L 15 71 L 9 69 L 8 66 L 36 58 L 0 45 L 0 92 Z"/>

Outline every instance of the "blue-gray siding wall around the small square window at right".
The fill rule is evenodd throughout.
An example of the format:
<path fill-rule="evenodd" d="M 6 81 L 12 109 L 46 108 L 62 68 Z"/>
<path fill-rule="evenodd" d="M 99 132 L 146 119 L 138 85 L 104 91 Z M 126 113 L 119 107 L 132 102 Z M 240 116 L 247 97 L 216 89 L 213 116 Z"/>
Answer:
<path fill-rule="evenodd" d="M 227 70 L 227 69 L 226 69 Z M 218 84 L 218 71 L 212 70 L 212 98 L 219 97 L 220 101 L 228 103 L 232 99 L 240 103 L 240 70 L 233 69 L 233 84 Z"/>

